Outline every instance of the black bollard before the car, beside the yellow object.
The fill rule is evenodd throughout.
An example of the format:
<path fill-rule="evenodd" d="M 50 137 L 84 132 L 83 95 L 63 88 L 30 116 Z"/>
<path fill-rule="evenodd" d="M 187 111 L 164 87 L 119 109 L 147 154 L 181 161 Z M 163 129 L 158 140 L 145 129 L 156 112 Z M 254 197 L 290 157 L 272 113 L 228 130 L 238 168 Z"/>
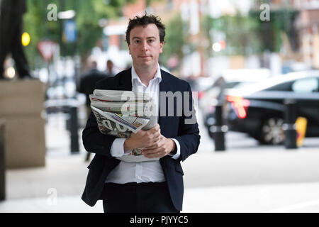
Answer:
<path fill-rule="evenodd" d="M 285 132 L 285 148 L 296 149 L 297 148 L 297 132 L 296 132 L 296 101 L 293 99 L 286 99 L 284 101 L 286 106 L 285 111 L 285 123 L 283 129 Z"/>

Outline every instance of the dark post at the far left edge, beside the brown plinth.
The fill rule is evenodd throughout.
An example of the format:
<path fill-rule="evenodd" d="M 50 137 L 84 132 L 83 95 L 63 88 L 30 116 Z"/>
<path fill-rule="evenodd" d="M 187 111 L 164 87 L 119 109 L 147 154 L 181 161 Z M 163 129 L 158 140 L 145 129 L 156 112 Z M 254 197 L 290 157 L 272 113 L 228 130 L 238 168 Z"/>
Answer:
<path fill-rule="evenodd" d="M 5 140 L 4 121 L 0 121 L 0 201 L 6 199 L 6 162 L 5 162 Z"/>

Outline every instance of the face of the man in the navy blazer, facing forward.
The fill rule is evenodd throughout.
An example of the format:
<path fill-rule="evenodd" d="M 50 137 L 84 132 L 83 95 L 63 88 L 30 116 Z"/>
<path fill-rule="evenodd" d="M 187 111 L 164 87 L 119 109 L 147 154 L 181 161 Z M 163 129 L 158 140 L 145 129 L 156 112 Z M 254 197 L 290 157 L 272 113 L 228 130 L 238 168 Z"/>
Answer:
<path fill-rule="evenodd" d="M 154 23 L 133 28 L 130 31 L 128 48 L 134 67 L 155 67 L 159 54 L 163 51 L 163 45 L 164 43 L 159 41 L 159 31 Z"/>

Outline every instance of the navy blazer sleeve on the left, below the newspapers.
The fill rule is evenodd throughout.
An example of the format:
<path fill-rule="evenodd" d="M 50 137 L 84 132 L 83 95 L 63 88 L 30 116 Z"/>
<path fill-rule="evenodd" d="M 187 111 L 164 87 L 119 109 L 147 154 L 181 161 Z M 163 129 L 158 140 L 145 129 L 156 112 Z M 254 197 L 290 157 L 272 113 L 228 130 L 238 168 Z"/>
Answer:
<path fill-rule="evenodd" d="M 96 84 L 95 89 L 105 89 Z M 111 146 L 116 139 L 113 135 L 105 135 L 99 131 L 99 126 L 96 118 L 91 111 L 89 119 L 86 121 L 86 126 L 82 132 L 83 145 L 86 151 L 96 153 L 98 155 L 111 156 Z"/>

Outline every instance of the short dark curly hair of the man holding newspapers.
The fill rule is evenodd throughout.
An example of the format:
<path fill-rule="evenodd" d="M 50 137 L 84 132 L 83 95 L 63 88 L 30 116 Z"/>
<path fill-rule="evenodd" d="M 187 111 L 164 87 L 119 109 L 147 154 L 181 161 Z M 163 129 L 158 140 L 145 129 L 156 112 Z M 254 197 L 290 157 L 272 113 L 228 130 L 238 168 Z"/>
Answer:
<path fill-rule="evenodd" d="M 130 31 L 138 26 L 147 26 L 151 23 L 154 23 L 155 26 L 157 26 L 158 31 L 159 31 L 159 42 L 162 43 L 164 42 L 164 37 L 165 37 L 165 26 L 161 22 L 161 19 L 158 16 L 154 15 L 147 15 L 145 14 L 144 16 L 135 16 L 135 18 L 130 19 L 128 22 L 128 28 L 126 29 L 126 43 L 128 45 L 130 44 Z"/>

